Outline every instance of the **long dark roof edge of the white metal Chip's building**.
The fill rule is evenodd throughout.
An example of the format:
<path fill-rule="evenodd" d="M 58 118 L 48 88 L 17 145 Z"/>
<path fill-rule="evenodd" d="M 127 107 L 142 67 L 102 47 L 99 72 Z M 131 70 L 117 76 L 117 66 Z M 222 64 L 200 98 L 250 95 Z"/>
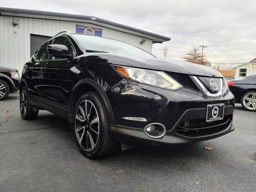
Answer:
<path fill-rule="evenodd" d="M 122 32 L 152 39 L 153 43 L 162 43 L 164 41 L 171 40 L 171 38 L 169 37 L 147 32 L 137 28 L 129 27 L 123 24 L 115 23 L 115 22 L 108 21 L 108 20 L 101 19 L 94 16 L 55 13 L 55 12 L 49 12 L 49 11 L 37 11 L 37 10 L 28 10 L 28 9 L 13 9 L 13 8 L 6 8 L 6 7 L 0 7 L 0 15 L 92 23 L 92 24 L 103 26 L 103 27 L 112 28 Z"/>

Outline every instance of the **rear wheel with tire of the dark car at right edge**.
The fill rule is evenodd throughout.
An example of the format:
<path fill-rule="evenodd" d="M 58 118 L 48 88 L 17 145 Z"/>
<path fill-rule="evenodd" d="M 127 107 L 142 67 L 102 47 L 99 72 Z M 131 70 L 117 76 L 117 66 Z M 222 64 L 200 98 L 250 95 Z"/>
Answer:
<path fill-rule="evenodd" d="M 243 94 L 241 105 L 247 111 L 256 111 L 256 91 L 248 91 Z"/>

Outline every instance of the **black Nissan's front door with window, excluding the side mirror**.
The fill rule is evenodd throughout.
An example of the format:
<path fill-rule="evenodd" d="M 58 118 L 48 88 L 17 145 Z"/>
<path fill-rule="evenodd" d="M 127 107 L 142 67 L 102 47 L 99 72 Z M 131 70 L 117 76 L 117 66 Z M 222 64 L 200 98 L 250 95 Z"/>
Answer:
<path fill-rule="evenodd" d="M 64 45 L 69 49 L 68 54 L 75 55 L 75 49 L 66 36 L 58 36 L 52 44 Z M 42 79 L 40 80 L 42 108 L 65 116 L 67 112 L 67 84 L 71 60 L 48 55 L 46 63 L 41 64 Z"/>

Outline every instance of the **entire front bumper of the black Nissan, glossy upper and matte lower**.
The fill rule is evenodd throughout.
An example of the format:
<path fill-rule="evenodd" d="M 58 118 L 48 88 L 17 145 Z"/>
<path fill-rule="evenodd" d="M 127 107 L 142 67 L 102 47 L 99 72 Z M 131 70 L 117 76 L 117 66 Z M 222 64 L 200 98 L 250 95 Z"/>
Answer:
<path fill-rule="evenodd" d="M 121 80 L 112 86 L 107 96 L 114 115 L 115 136 L 121 142 L 150 145 L 184 144 L 213 139 L 234 131 L 234 95 L 231 92 L 225 92 L 222 97 L 210 98 L 188 88 L 170 91 Z M 199 134 L 194 131 L 190 131 L 193 132 L 192 135 L 178 131 L 178 126 L 185 120 L 205 119 L 208 104 L 224 104 L 224 123 L 225 119 L 217 123 L 216 129 L 207 132 L 207 129 L 204 129 L 199 131 Z M 163 124 L 166 127 L 164 137 L 148 137 L 143 128 L 150 123 Z"/>

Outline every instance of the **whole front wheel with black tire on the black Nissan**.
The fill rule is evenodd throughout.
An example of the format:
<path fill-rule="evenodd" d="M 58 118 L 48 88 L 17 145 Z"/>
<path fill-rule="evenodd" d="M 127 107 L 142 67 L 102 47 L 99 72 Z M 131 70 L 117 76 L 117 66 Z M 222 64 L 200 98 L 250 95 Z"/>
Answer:
<path fill-rule="evenodd" d="M 106 106 L 97 92 L 86 92 L 78 99 L 73 129 L 80 151 L 88 158 L 107 156 L 117 146 L 109 134 Z"/>

